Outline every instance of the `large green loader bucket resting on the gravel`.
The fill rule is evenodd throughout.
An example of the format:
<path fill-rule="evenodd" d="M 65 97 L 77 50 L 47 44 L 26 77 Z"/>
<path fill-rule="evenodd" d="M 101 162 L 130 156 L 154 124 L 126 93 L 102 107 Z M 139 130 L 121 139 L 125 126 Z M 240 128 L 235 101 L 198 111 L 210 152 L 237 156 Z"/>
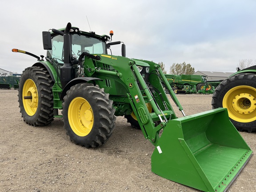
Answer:
<path fill-rule="evenodd" d="M 152 172 L 205 192 L 224 192 L 252 155 L 225 108 L 169 120 Z"/>

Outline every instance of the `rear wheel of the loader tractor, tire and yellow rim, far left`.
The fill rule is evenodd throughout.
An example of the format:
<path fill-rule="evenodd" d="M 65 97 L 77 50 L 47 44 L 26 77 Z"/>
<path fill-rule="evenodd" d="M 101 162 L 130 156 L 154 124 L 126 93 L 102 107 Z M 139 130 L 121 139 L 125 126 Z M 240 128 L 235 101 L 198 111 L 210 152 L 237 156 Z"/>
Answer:
<path fill-rule="evenodd" d="M 21 116 L 27 124 L 43 126 L 53 121 L 53 84 L 45 68 L 29 67 L 23 71 L 18 101 Z"/>

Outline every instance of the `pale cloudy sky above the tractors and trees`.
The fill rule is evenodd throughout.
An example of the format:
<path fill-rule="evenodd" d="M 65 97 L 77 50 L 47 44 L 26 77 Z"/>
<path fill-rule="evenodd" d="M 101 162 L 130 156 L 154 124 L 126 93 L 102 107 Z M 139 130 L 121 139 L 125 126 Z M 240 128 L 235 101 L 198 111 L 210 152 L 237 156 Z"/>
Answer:
<path fill-rule="evenodd" d="M 42 31 L 68 22 L 99 35 L 113 30 L 127 57 L 163 62 L 167 72 L 183 62 L 236 72 L 239 60 L 256 61 L 255 0 L 12 0 L 0 9 L 0 68 L 10 72 L 37 61 L 12 48 L 45 56 Z M 121 55 L 118 46 L 113 55 Z"/>

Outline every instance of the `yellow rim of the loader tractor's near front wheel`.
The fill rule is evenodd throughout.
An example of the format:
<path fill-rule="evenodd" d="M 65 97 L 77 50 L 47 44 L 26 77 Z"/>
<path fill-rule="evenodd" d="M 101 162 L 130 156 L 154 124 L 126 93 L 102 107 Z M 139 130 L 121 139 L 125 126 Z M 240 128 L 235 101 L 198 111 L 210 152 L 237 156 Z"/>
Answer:
<path fill-rule="evenodd" d="M 82 97 L 76 97 L 68 107 L 68 122 L 73 132 L 78 136 L 87 136 L 92 131 L 92 107 Z"/>

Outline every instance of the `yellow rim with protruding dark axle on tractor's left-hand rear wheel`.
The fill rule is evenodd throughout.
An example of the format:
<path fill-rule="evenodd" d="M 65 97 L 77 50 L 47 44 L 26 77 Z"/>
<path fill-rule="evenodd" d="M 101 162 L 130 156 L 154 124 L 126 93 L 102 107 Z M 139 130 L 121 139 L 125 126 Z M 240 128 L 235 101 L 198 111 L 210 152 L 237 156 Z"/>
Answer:
<path fill-rule="evenodd" d="M 24 96 L 32 96 L 32 99 L 24 99 Z M 23 85 L 22 102 L 25 112 L 29 116 L 35 115 L 38 106 L 38 93 L 36 84 L 32 79 L 27 79 Z"/>

